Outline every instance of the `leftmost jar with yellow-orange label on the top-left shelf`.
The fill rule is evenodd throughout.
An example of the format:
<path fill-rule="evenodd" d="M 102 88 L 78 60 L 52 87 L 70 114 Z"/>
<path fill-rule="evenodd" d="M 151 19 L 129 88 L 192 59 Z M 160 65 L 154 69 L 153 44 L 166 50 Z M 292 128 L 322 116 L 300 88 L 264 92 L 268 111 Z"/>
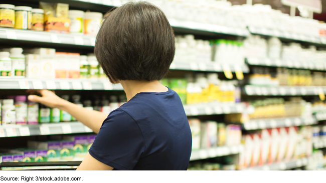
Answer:
<path fill-rule="evenodd" d="M 0 4 L 0 27 L 15 27 L 15 6 Z"/>

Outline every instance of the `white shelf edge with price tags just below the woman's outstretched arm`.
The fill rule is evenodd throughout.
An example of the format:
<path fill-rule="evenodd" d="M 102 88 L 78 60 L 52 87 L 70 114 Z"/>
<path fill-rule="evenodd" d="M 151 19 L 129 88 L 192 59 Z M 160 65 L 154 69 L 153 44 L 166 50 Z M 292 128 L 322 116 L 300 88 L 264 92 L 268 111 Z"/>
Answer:
<path fill-rule="evenodd" d="M 0 137 L 33 136 L 93 132 L 80 122 L 44 123 L 30 125 L 2 125 Z"/>

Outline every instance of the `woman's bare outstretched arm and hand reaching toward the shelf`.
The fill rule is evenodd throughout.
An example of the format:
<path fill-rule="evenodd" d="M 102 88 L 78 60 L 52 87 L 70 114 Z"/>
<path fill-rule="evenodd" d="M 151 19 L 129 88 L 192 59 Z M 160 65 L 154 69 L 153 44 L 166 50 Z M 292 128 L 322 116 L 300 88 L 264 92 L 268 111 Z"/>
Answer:
<path fill-rule="evenodd" d="M 91 128 L 95 133 L 100 131 L 103 121 L 108 116 L 102 112 L 88 110 L 83 107 L 77 106 L 67 100 L 64 100 L 49 90 L 36 90 L 42 95 L 30 95 L 28 99 L 33 102 L 42 103 L 51 108 L 58 108 L 64 110 L 75 117 L 78 121 Z"/>

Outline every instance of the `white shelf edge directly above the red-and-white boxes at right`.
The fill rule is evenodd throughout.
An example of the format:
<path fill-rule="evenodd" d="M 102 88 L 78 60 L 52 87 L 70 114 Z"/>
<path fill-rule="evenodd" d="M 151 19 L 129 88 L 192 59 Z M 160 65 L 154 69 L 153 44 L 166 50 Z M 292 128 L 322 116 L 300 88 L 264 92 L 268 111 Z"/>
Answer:
<path fill-rule="evenodd" d="M 269 129 L 289 126 L 302 126 L 317 124 L 318 121 L 313 117 L 287 117 L 272 119 L 255 119 L 241 125 L 244 130 Z"/>

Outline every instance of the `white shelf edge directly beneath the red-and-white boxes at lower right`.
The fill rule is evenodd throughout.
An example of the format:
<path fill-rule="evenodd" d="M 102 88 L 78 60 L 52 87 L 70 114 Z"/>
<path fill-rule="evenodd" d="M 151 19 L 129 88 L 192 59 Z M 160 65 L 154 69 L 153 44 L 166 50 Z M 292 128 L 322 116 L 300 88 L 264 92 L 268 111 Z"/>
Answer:
<path fill-rule="evenodd" d="M 289 161 L 282 161 L 282 162 L 276 162 L 276 163 L 271 163 L 271 164 L 266 164 L 261 166 L 243 168 L 241 170 L 285 170 L 285 169 L 292 169 L 292 168 L 305 166 L 311 161 L 312 161 L 311 158 L 303 157 L 303 158 L 293 159 Z"/>

